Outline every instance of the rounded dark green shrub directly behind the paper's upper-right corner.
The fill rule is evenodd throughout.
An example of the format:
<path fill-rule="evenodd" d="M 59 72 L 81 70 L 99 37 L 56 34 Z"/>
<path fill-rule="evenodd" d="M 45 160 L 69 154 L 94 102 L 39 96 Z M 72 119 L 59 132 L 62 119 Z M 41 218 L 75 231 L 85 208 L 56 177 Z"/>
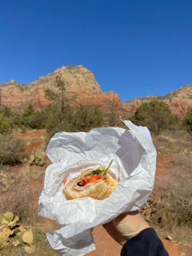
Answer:
<path fill-rule="evenodd" d="M 131 120 L 134 124 L 147 126 L 155 134 L 181 124 L 180 120 L 172 115 L 168 105 L 161 101 L 144 102 Z"/>

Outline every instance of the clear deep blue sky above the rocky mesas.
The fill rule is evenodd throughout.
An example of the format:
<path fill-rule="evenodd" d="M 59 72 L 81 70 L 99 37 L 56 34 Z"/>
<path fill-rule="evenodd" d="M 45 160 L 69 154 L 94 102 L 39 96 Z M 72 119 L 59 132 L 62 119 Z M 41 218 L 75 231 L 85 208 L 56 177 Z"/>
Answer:
<path fill-rule="evenodd" d="M 122 101 L 192 84 L 192 2 L 1 0 L 0 83 L 89 68 Z"/>

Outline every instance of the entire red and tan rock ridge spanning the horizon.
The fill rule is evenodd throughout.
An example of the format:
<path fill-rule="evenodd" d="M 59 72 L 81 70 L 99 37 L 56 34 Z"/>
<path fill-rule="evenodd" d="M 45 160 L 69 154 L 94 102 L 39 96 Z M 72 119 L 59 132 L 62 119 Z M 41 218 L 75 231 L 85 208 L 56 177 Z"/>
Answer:
<path fill-rule="evenodd" d="M 108 104 L 113 104 L 118 113 L 123 116 L 130 116 L 143 102 L 161 100 L 166 102 L 174 115 L 182 117 L 186 115 L 189 108 L 192 108 L 192 86 L 182 86 L 179 90 L 169 93 L 163 97 L 148 96 L 136 98 L 122 104 L 121 99 L 113 91 L 102 92 L 95 77 L 88 68 L 82 65 L 63 66 L 46 76 L 39 77 L 28 86 L 19 84 L 14 80 L 9 83 L 0 84 L 0 104 L 18 111 L 24 111 L 33 104 L 35 109 L 41 109 L 50 102 L 46 99 L 45 88 L 53 88 L 56 77 L 61 76 L 69 86 L 67 92 L 76 95 L 76 102 L 80 104 L 97 104 L 104 111 Z"/>

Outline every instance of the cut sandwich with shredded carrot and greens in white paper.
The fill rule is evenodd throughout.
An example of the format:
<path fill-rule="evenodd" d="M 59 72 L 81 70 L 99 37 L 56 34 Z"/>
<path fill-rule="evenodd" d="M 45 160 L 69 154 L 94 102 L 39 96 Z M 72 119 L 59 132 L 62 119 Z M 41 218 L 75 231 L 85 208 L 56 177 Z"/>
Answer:
<path fill-rule="evenodd" d="M 99 166 L 96 170 L 92 168 L 84 170 L 79 177 L 72 179 L 67 184 L 65 184 L 66 179 L 63 180 L 65 184 L 63 188 L 65 197 L 68 200 L 85 196 L 90 196 L 98 200 L 108 198 L 117 185 L 116 180 L 108 173 L 112 162 L 113 160 L 108 168 Z"/>

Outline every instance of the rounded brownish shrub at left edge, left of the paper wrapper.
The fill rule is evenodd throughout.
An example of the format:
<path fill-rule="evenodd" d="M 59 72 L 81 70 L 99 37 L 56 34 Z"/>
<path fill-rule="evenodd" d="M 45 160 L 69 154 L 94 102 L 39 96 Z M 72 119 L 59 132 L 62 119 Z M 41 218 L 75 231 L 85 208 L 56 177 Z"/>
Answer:
<path fill-rule="evenodd" d="M 19 164 L 25 158 L 24 143 L 9 134 L 0 135 L 0 164 Z"/>

